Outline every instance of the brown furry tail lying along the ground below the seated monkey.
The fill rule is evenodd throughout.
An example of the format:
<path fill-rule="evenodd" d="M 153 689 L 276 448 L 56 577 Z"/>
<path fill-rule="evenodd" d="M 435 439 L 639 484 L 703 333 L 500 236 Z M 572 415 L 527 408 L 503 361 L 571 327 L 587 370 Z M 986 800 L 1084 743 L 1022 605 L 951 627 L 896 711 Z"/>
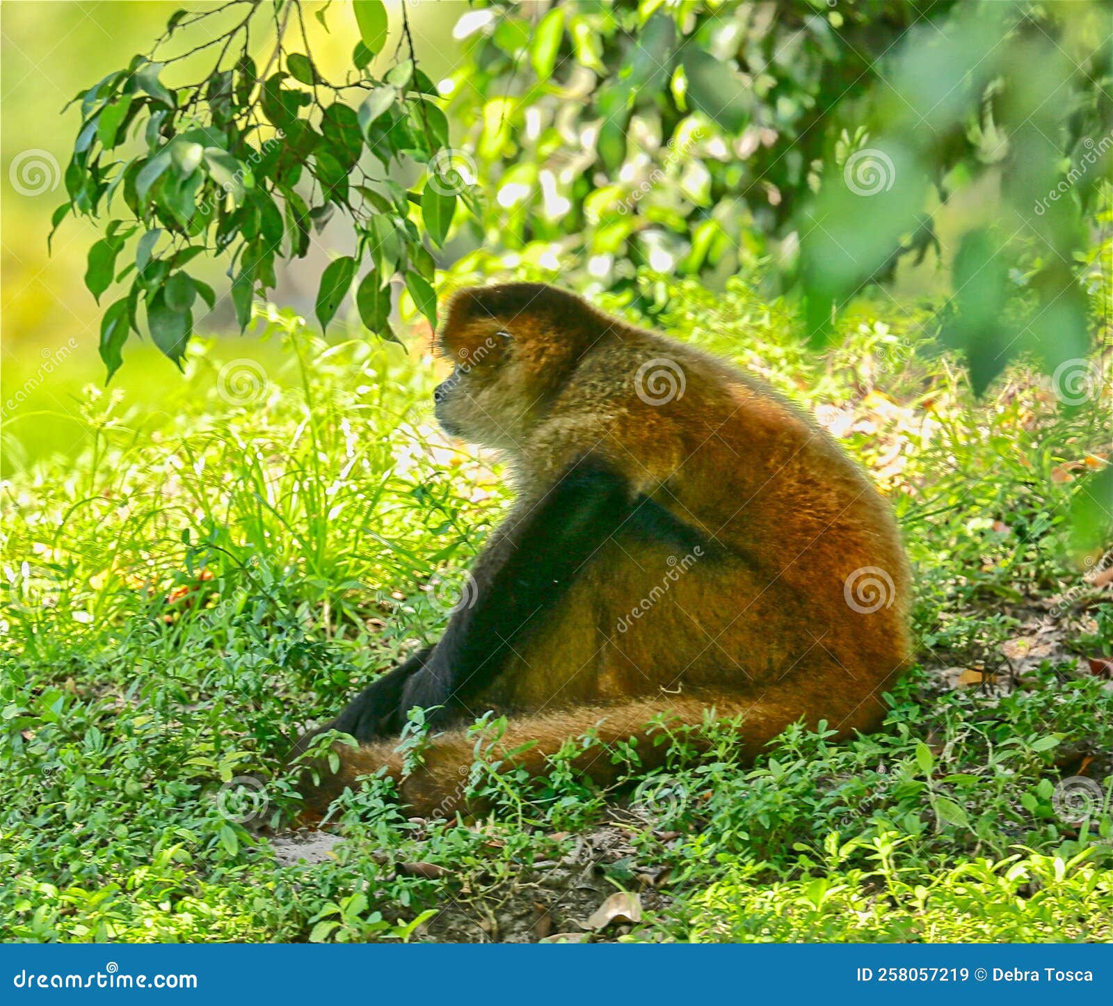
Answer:
<path fill-rule="evenodd" d="M 830 699 L 823 709 L 815 709 L 815 693 L 807 696 L 790 682 L 771 686 L 752 694 L 705 692 L 690 694 L 644 696 L 607 706 L 577 706 L 551 712 L 520 713 L 511 718 L 502 736 L 494 741 L 491 754 L 506 758 L 530 775 L 544 772 L 548 759 L 567 740 L 591 734 L 601 742 L 592 744 L 573 761 L 574 767 L 600 783 L 613 781 L 621 766 L 608 754 L 613 744 L 630 738 L 648 739 L 638 744 L 638 756 L 646 768 L 663 762 L 668 744 L 653 743 L 662 729 L 697 727 L 709 713 L 716 719 L 740 723 L 741 756 L 752 760 L 762 748 L 797 720 L 815 728 L 826 720 L 838 737 L 855 730 L 876 729 L 885 717 L 886 707 L 878 688 L 865 698 Z M 808 701 L 810 699 L 810 701 Z M 810 708 L 809 708 L 810 707 Z M 532 743 L 531 743 L 532 742 Z M 423 752 L 422 763 L 408 775 L 404 756 L 395 750 L 397 739 L 377 741 L 361 748 L 337 748 L 341 767 L 335 775 L 324 776 L 318 786 L 304 788 L 308 819 L 319 819 L 328 805 L 346 787 L 356 788 L 361 776 L 374 775 L 381 768 L 396 780 L 402 799 L 415 815 L 449 816 L 466 805 L 469 769 L 476 747 L 485 746 L 482 738 L 464 727 L 450 729 L 434 737 Z M 528 746 L 528 747 L 526 747 Z M 518 751 L 516 749 L 523 748 Z M 490 757 L 490 756 L 489 756 Z"/>

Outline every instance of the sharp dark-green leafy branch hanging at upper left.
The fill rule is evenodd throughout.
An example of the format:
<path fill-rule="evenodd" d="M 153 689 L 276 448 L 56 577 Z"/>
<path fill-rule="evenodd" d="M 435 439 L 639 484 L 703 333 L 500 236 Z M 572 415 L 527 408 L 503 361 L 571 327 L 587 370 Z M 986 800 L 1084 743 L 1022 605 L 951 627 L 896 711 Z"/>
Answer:
<path fill-rule="evenodd" d="M 435 318 L 434 262 L 423 236 L 443 241 L 457 195 L 469 196 L 444 181 L 418 196 L 388 170 L 403 160 L 427 164 L 445 149 L 449 128 L 436 89 L 417 68 L 412 46 L 383 79 L 370 72 L 386 42 L 382 0 L 352 4 L 358 29 L 352 68 L 343 81 L 326 79 L 308 51 L 304 7 L 233 0 L 196 13 L 178 11 L 150 56 L 135 57 L 78 97 L 81 127 L 66 171 L 69 199 L 53 224 L 70 211 L 108 218 L 104 237 L 89 249 L 86 285 L 98 300 L 114 283 L 128 285 L 101 323 L 109 377 L 130 333 L 140 332 L 140 304 L 156 345 L 180 362 L 197 299 L 209 308 L 216 302 L 214 289 L 187 270 L 191 262 L 216 255 L 229 264 L 229 293 L 243 329 L 253 297 L 275 286 L 276 260 L 305 256 L 313 234 L 337 210 L 355 229 L 356 251 L 333 260 L 321 277 L 322 327 L 358 279 L 361 319 L 393 338 L 395 275 Z M 171 59 L 157 58 L 171 39 L 203 37 L 200 22 L 230 10 L 242 17 L 223 34 Z M 327 13 L 316 12 L 322 24 Z M 249 55 L 258 22 L 275 38 L 263 67 Z M 292 36 L 303 51 L 290 46 Z M 204 80 L 183 87 L 164 81 L 174 63 L 216 46 Z"/>

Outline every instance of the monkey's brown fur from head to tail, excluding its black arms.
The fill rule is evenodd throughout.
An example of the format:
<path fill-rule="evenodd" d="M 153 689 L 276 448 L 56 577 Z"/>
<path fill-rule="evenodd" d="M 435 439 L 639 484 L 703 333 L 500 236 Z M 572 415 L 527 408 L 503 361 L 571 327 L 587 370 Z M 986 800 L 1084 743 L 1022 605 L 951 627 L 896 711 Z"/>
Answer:
<path fill-rule="evenodd" d="M 440 348 L 460 372 L 439 417 L 500 450 L 519 489 L 504 529 L 590 454 L 723 550 L 678 570 L 673 550 L 609 540 L 549 623 L 469 699 L 476 716 L 509 714 L 502 749 L 535 741 L 518 761 L 536 771 L 589 730 L 615 741 L 644 734 L 660 713 L 699 723 L 711 709 L 741 718 L 750 757 L 801 718 L 839 736 L 880 723 L 880 693 L 908 657 L 909 573 L 889 507 L 826 433 L 721 361 L 552 287 L 461 292 Z M 636 375 L 661 359 L 683 391 L 648 404 Z M 662 391 L 647 381 L 650 395 Z M 864 568 L 892 582 L 889 603 L 869 613 L 846 594 Z M 406 778 L 395 744 L 342 748 L 342 771 L 317 802 L 386 766 L 417 812 L 455 809 L 475 748 L 466 730 L 436 737 Z M 612 771 L 594 756 L 581 768 L 600 780 Z"/>

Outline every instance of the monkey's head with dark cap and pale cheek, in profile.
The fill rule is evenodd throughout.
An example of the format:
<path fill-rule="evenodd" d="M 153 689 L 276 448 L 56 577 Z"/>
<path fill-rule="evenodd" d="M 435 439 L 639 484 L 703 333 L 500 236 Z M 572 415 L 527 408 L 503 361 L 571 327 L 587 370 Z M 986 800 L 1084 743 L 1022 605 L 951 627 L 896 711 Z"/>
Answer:
<path fill-rule="evenodd" d="M 460 290 L 437 335 L 437 352 L 454 366 L 433 393 L 437 421 L 453 436 L 514 451 L 612 325 L 541 283 Z"/>

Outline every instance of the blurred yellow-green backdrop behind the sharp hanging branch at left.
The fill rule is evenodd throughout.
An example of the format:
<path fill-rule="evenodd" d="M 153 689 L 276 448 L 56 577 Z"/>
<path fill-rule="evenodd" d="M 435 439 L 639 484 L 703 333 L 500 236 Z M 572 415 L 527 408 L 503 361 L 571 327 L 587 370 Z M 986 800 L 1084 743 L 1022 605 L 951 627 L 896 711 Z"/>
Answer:
<path fill-rule="evenodd" d="M 70 106 L 63 111 L 63 107 L 106 73 L 126 66 L 135 53 L 149 51 L 180 6 L 164 0 L 29 0 L 0 8 L 0 474 L 55 452 L 72 455 L 88 446 L 88 427 L 79 416 L 89 401 L 89 388 L 102 388 L 105 383 L 97 353 L 101 312 L 82 283 L 86 256 L 99 237 L 98 228 L 86 218 L 68 216 L 55 235 L 52 254 L 47 247 L 50 216 L 66 197 L 61 171 L 80 125 L 79 109 Z M 381 56 L 384 66 L 401 31 L 397 3 L 387 7 L 391 38 Z M 441 4 L 440 11 L 434 7 L 415 4 L 411 23 L 421 39 L 422 63 L 435 76 L 451 53 L 453 20 L 459 13 L 452 8 L 464 6 Z M 333 10 L 328 32 L 309 21 L 314 55 L 324 68 L 335 65 L 338 69 L 349 61 L 356 27 L 351 9 L 345 8 L 337 4 Z M 259 41 L 259 51 L 267 52 L 269 40 Z M 207 72 L 210 62 L 209 53 L 199 53 L 176 67 L 176 72 L 181 81 L 191 81 Z M 20 178 L 23 184 L 13 185 Z M 346 221 L 334 221 L 325 243 L 343 245 L 348 239 L 346 229 Z M 276 299 L 312 316 L 326 263 L 325 250 L 315 247 L 306 259 L 285 265 Z M 213 264 L 207 274 L 198 272 L 211 283 L 224 279 Z M 227 302 L 218 304 L 199 327 L 206 335 L 236 339 L 235 355 L 246 359 L 277 364 L 283 356 L 275 345 L 235 334 Z M 126 365 L 107 393 L 118 394 L 124 408 L 137 406 L 139 420 L 157 422 L 160 414 L 173 413 L 176 400 L 186 394 L 173 365 L 149 341 L 131 339 L 125 355 Z M 267 369 L 277 375 L 279 367 Z M 214 369 L 208 381 L 215 379 Z"/>

